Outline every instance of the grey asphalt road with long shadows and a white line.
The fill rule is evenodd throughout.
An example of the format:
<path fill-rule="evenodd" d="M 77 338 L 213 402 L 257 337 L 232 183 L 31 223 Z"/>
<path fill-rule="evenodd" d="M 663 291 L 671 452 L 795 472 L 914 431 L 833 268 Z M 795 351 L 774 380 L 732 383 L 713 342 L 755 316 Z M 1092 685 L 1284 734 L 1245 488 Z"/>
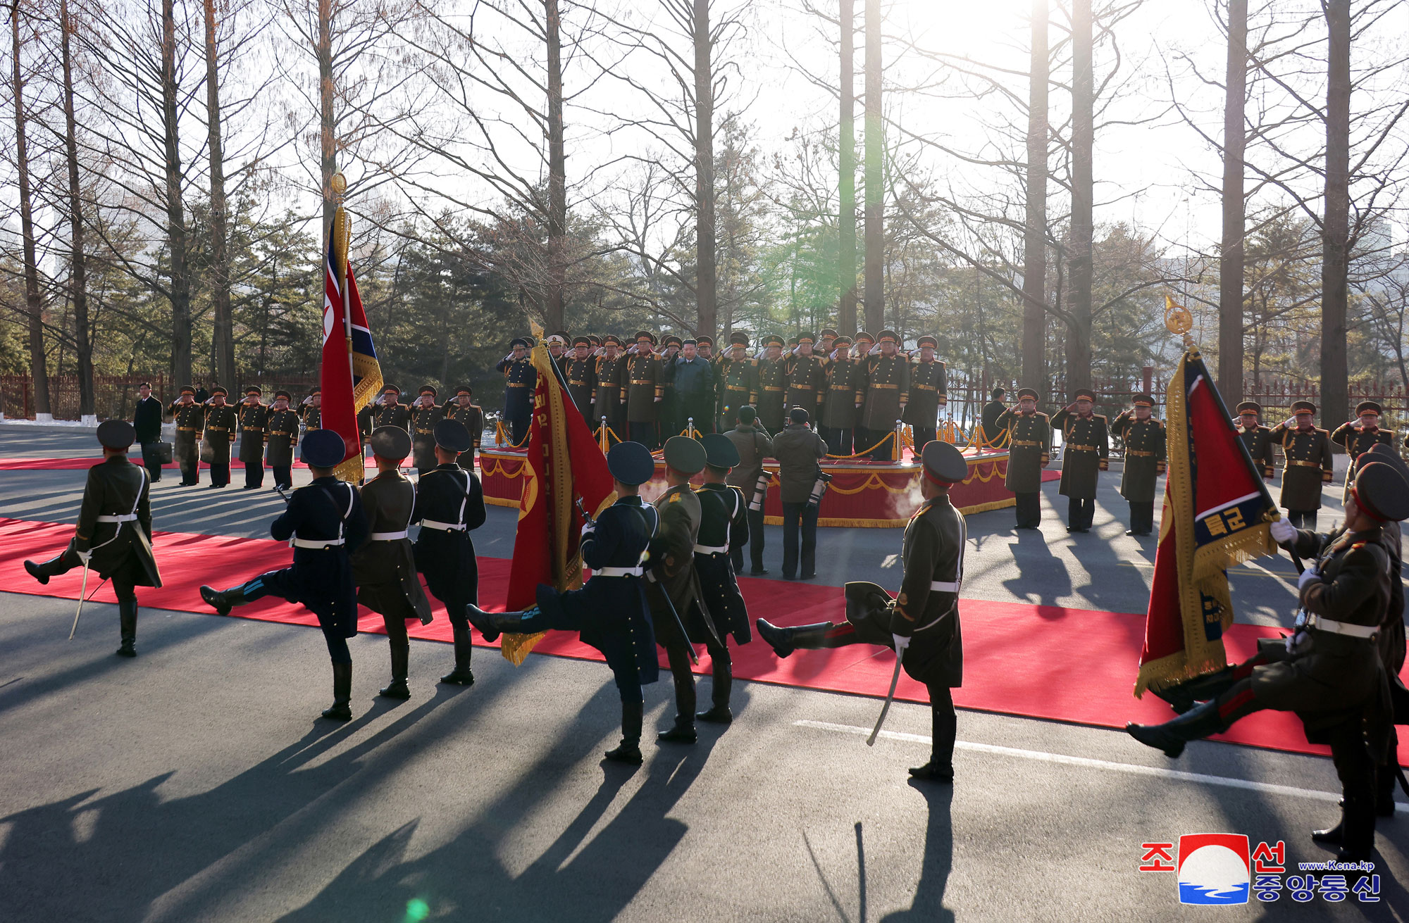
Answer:
<path fill-rule="evenodd" d="M 73 442 L 55 445 L 92 445 L 61 435 Z M 0 457 L 28 447 L 21 438 L 0 426 Z M 80 487 L 80 471 L 3 471 L 0 515 L 72 521 Z M 279 507 L 170 480 L 155 494 L 156 525 L 172 530 L 263 536 Z M 1143 611 L 1138 561 L 1154 549 L 1116 535 L 1123 512 L 1112 491 L 1096 532 L 1067 536 L 1048 516 L 1044 542 L 1016 540 L 1007 511 L 972 516 L 965 595 Z M 507 556 L 511 529 L 511 511 L 492 509 L 476 546 Z M 821 536 L 826 583 L 898 581 L 886 560 L 899 530 Z M 0 590 L 23 580 L 4 574 Z M 1291 599 L 1274 575 L 1239 573 L 1234 588 L 1270 619 Z M 1138 871 L 1141 843 L 1203 832 L 1284 840 L 1288 874 L 1329 858 L 1306 836 L 1336 816 L 1336 777 L 1319 757 L 1200 741 L 1169 761 L 1119 732 L 965 711 L 954 787 L 913 785 L 923 706 L 896 705 L 893 733 L 868 749 L 876 699 L 740 682 L 733 726 L 702 729 L 693 747 L 648 741 L 633 771 L 599 763 L 619 712 L 596 663 L 534 656 L 516 668 L 478 650 L 476 685 L 445 688 L 434 677 L 449 647 L 416 642 L 413 698 L 389 704 L 375 698 L 386 643 L 359 636 L 355 719 L 333 726 L 316 720 L 331 689 L 314 630 L 144 609 L 141 656 L 123 660 L 116 606 L 86 609 L 73 642 L 72 602 L 0 592 L 0 920 L 1409 913 L 1403 805 L 1381 825 L 1375 905 L 1284 892 L 1265 908 L 1181 908 L 1172 874 Z M 668 726 L 668 682 L 648 687 L 647 709 L 648 732 Z"/>

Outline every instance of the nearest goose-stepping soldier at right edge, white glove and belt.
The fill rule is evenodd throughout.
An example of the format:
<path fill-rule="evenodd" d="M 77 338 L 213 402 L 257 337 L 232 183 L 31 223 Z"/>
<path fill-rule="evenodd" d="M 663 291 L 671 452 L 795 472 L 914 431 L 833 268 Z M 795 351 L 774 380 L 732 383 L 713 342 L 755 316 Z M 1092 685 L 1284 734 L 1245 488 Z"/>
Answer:
<path fill-rule="evenodd" d="M 1285 519 L 1272 525 L 1282 547 L 1315 563 L 1298 577 L 1305 619 L 1291 637 L 1267 637 L 1258 653 L 1208 688 L 1209 701 L 1164 725 L 1127 725 L 1131 737 L 1184 753 L 1185 743 L 1227 730 L 1261 711 L 1296 712 L 1309 743 L 1330 744 L 1341 784 L 1341 822 L 1312 839 L 1339 847 L 1340 861 L 1371 858 L 1375 839 L 1375 763 L 1386 746 L 1389 684 L 1377 636 L 1398 580 L 1384 528 L 1409 518 L 1409 484 L 1395 467 L 1365 462 L 1346 499 L 1346 523 L 1317 535 Z"/>

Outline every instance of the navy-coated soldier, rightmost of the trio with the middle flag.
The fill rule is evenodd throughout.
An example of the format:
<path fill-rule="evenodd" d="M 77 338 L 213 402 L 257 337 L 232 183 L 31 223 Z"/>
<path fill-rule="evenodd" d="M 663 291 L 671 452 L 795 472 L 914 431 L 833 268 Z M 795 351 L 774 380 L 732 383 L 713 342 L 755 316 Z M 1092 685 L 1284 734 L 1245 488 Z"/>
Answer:
<path fill-rule="evenodd" d="M 734 713 L 728 709 L 734 684 L 733 660 L 728 656 L 728 636 L 735 644 L 754 639 L 748 623 L 748 606 L 738 591 L 738 580 L 730 554 L 735 542 L 748 540 L 748 504 L 744 491 L 728 484 L 728 474 L 740 463 L 738 447 L 723 433 L 706 433 L 704 484 L 695 491 L 700 499 L 700 532 L 695 542 L 695 573 L 699 575 L 704 608 L 714 620 L 719 647 L 709 651 L 712 684 L 710 709 L 695 718 L 714 725 L 728 725 Z M 743 560 L 743 559 L 740 559 Z"/>

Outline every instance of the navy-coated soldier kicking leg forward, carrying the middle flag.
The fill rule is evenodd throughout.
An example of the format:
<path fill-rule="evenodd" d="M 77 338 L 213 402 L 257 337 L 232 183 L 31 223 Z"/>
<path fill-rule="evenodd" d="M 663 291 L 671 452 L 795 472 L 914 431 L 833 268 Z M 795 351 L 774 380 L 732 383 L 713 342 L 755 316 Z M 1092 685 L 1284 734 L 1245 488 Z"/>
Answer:
<path fill-rule="evenodd" d="M 606 758 L 641 765 L 644 684 L 659 678 L 651 609 L 641 580 L 643 561 L 659 516 L 643 504 L 641 484 L 655 474 L 655 459 L 637 442 L 620 442 L 607 452 L 617 501 L 582 529 L 582 563 L 592 578 L 582 590 L 559 592 L 538 584 L 538 605 L 524 612 L 480 612 L 499 632 L 527 635 L 550 629 L 578 632 L 585 644 L 602 651 L 621 698 L 621 743 Z"/>

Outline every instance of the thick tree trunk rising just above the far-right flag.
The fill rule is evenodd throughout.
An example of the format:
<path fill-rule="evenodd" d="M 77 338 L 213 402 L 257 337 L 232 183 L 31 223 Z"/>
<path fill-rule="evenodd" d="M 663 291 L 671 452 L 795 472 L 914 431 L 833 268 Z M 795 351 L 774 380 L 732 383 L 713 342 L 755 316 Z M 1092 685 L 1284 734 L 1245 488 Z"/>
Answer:
<path fill-rule="evenodd" d="M 1247 0 L 1229 0 L 1229 61 L 1223 101 L 1223 246 L 1219 252 L 1219 391 L 1229 407 L 1243 400 L 1243 235 L 1247 132 Z"/>

